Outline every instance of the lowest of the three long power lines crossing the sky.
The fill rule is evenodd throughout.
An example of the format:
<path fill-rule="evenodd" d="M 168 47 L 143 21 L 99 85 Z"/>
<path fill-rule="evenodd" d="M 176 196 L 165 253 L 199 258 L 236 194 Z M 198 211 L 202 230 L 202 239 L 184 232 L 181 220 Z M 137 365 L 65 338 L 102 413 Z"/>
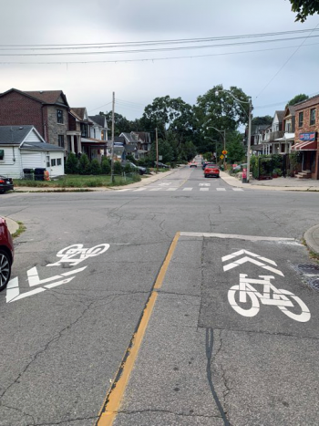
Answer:
<path fill-rule="evenodd" d="M 303 47 L 308 46 L 317 46 L 319 43 L 309 43 L 307 45 L 303 45 Z M 285 46 L 285 47 L 273 47 L 273 48 L 266 48 L 266 49 L 254 49 L 254 50 L 242 50 L 238 52 L 223 52 L 223 53 L 212 53 L 207 55 L 191 55 L 191 56 L 182 56 L 182 57 L 145 57 L 145 58 L 138 58 L 138 59 L 110 59 L 110 60 L 89 60 L 89 61 L 51 61 L 51 62 L 26 62 L 26 61 L 2 61 L 0 62 L 0 65 L 72 65 L 72 64 L 107 64 L 107 63 L 122 63 L 122 62 L 154 62 L 158 60 L 170 60 L 170 59 L 186 59 L 186 58 L 197 58 L 197 57 L 221 57 L 221 56 L 228 56 L 228 55 L 240 55 L 245 53 L 260 53 L 260 52 L 267 52 L 273 50 L 283 50 L 288 48 L 293 48 L 296 46 Z"/>

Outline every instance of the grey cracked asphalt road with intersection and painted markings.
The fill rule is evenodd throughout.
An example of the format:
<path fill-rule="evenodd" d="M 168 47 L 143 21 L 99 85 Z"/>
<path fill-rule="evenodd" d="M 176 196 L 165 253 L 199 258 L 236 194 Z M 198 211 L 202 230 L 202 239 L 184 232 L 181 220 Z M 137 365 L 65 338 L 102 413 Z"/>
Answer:
<path fill-rule="evenodd" d="M 319 294 L 296 266 L 314 264 L 301 241 L 318 205 L 189 168 L 134 190 L 2 196 L 26 232 L 0 294 L 0 425 L 95 424 L 178 232 L 114 424 L 317 424 Z M 257 283 L 242 302 L 240 274 L 297 299 L 272 287 L 292 307 L 264 304 Z"/>

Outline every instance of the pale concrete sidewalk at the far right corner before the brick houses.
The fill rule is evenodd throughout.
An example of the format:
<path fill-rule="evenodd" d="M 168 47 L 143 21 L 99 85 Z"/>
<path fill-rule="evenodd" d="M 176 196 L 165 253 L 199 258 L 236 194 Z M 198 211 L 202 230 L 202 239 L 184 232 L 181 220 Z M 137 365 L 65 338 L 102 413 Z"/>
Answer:
<path fill-rule="evenodd" d="M 296 178 L 276 178 L 271 181 L 256 181 L 251 178 L 249 183 L 242 183 L 239 179 L 221 171 L 221 179 L 236 188 L 250 188 L 266 191 L 302 191 L 319 192 L 319 181 L 311 179 L 298 180 Z"/>

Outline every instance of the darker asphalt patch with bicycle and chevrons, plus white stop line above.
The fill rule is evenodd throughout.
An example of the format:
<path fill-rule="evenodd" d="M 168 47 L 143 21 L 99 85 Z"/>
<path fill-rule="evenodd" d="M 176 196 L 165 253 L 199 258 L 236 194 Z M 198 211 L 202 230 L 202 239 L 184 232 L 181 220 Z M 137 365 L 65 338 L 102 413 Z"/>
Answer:
<path fill-rule="evenodd" d="M 203 327 L 317 336 L 318 296 L 296 265 L 311 263 L 294 239 L 181 233 L 204 238 Z"/>

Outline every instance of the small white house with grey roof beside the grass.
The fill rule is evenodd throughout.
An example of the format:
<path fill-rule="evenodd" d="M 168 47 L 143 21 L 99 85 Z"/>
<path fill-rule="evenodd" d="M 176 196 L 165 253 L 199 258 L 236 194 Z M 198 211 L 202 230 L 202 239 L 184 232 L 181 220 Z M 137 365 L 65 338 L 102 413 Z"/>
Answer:
<path fill-rule="evenodd" d="M 0 174 L 21 179 L 24 169 L 36 168 L 63 175 L 64 148 L 46 143 L 34 126 L 0 126 Z"/>

